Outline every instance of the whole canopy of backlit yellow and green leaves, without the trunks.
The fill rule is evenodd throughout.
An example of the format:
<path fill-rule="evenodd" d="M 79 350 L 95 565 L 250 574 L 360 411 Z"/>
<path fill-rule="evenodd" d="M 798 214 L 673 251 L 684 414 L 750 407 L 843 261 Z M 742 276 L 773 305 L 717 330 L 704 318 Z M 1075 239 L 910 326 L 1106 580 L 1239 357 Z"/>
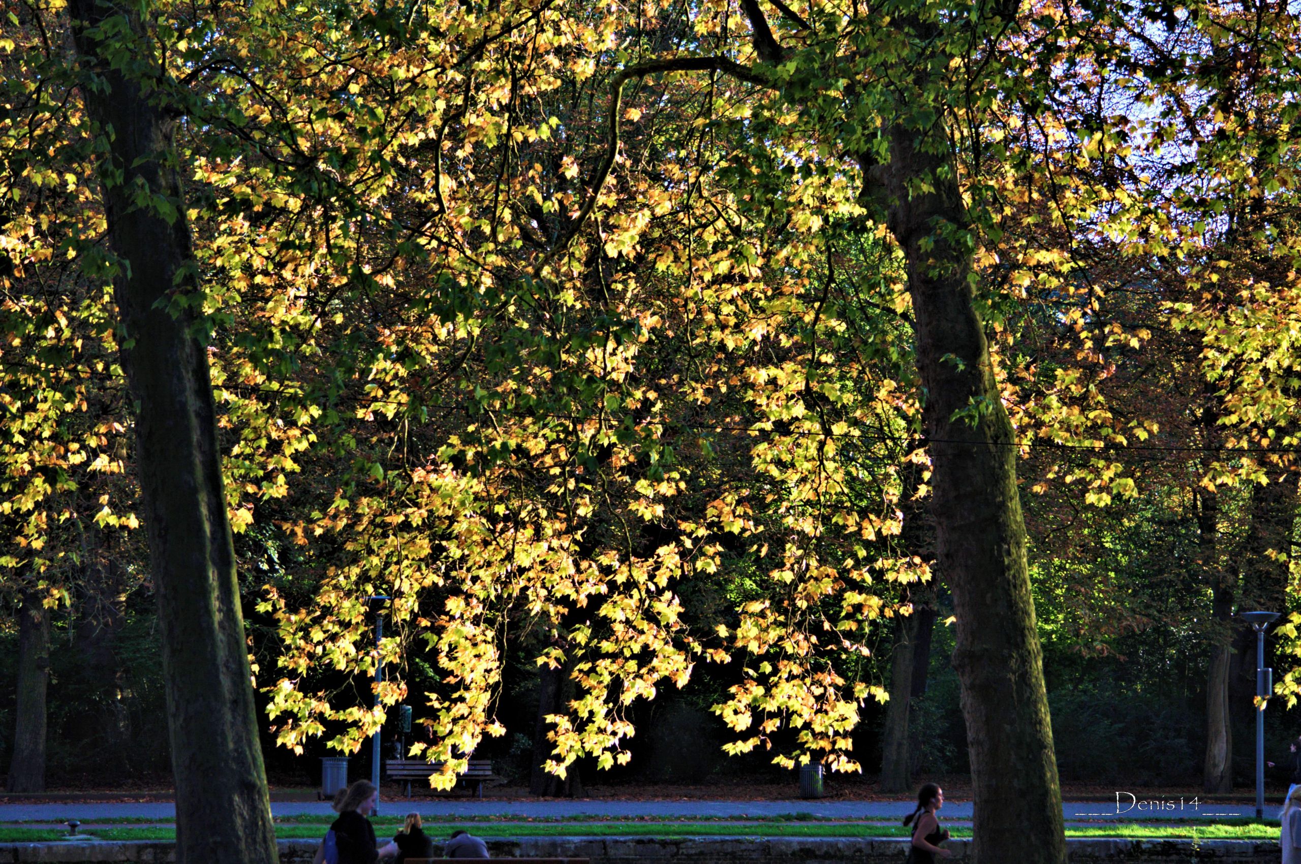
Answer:
<path fill-rule="evenodd" d="M 856 768 L 873 630 L 930 578 L 899 541 L 926 493 L 909 302 L 861 170 L 895 122 L 945 130 L 1025 453 L 1084 449 L 1037 491 L 1137 496 L 1131 446 L 1207 448 L 1180 483 L 1209 489 L 1291 470 L 1285 9 L 809 0 L 765 42 L 752 5 L 167 0 L 121 27 L 177 117 L 186 200 L 138 206 L 195 237 L 203 290 L 169 302 L 211 338 L 232 522 L 297 549 L 262 605 L 285 746 L 355 748 L 409 697 L 341 704 L 321 669 L 423 652 L 450 783 L 530 634 L 578 686 L 557 773 L 626 759 L 628 705 L 703 661 L 739 664 L 731 749 L 790 726 L 783 764 Z M 61 5 L 4 26 L 0 563 L 55 574 L 87 522 L 135 527 L 105 288 L 130 264 Z M 727 614 L 688 621 L 688 580 Z"/>

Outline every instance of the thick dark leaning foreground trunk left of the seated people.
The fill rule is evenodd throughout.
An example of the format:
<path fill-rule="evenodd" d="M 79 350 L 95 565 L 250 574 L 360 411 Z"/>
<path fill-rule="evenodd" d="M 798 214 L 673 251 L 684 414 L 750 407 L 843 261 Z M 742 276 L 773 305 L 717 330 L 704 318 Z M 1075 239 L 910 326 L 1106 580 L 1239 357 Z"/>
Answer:
<path fill-rule="evenodd" d="M 138 8 L 69 4 L 83 99 L 109 147 L 100 182 L 109 241 L 122 259 L 114 298 L 161 623 L 177 859 L 275 864 L 207 349 L 191 307 L 167 308 L 173 294 L 198 289 L 172 118 L 156 79 L 144 91 L 121 72 L 124 57 L 144 64 L 150 56 Z M 135 44 L 125 44 L 133 35 Z"/>

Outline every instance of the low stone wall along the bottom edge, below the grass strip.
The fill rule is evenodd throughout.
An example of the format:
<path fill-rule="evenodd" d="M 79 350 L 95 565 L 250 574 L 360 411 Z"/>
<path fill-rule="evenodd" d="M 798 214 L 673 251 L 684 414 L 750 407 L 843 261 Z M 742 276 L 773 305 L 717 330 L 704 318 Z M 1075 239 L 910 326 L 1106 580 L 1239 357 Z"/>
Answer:
<path fill-rule="evenodd" d="M 280 841 L 281 864 L 310 864 L 316 841 Z M 946 844 L 950 861 L 968 857 L 967 841 Z M 903 839 L 783 837 L 527 837 L 489 841 L 494 857 L 587 857 L 592 864 L 902 864 Z M 1278 864 L 1279 844 L 1266 841 L 1068 839 L 1071 864 Z M 172 843 L 56 842 L 0 843 L 0 864 L 18 861 L 176 861 Z M 238 864 L 238 861 L 213 863 Z"/>

